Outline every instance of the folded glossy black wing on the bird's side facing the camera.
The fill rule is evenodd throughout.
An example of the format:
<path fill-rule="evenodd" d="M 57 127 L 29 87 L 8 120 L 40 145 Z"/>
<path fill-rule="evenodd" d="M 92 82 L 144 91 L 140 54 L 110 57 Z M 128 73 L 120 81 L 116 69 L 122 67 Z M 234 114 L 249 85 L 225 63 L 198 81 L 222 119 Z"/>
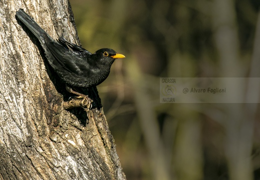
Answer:
<path fill-rule="evenodd" d="M 88 53 L 69 50 L 54 41 L 48 42 L 47 46 L 55 57 L 52 60 L 55 70 L 62 71 L 62 69 L 65 69 L 75 77 L 80 77 L 83 73 L 89 72 Z"/>

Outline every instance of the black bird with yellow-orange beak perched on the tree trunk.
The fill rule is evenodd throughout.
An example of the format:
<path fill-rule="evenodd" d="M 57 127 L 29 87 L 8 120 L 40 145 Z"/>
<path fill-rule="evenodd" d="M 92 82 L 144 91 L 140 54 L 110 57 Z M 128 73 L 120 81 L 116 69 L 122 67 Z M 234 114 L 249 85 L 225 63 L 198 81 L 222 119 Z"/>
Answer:
<path fill-rule="evenodd" d="M 68 42 L 63 36 L 56 41 L 24 9 L 19 9 L 16 15 L 39 39 L 52 68 L 66 83 L 66 89 L 89 100 L 90 104 L 92 100 L 87 95 L 71 87 L 100 84 L 108 77 L 115 59 L 125 57 L 110 48 L 102 48 L 92 54 L 81 46 Z"/>

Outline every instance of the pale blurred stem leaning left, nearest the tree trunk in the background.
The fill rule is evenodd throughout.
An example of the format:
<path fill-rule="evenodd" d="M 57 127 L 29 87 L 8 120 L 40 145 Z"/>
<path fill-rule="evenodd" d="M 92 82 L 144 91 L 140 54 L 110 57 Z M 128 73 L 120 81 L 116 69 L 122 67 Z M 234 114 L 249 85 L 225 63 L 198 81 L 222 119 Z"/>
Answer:
<path fill-rule="evenodd" d="M 135 102 L 137 114 L 141 129 L 145 138 L 145 142 L 150 154 L 150 162 L 152 167 L 153 179 L 173 179 L 170 176 L 167 166 L 167 154 L 160 137 L 159 125 L 156 120 L 156 114 L 153 110 L 151 99 L 147 93 L 145 80 L 140 71 L 136 60 L 132 58 L 131 64 L 127 65 L 128 75 L 130 76 L 133 88 L 135 89 Z"/>

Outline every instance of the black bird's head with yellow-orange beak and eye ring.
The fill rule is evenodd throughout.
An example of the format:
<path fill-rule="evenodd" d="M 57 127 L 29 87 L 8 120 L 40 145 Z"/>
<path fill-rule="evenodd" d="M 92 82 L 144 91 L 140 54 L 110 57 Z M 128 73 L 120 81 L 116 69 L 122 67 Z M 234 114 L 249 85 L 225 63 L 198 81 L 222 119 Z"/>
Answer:
<path fill-rule="evenodd" d="M 123 54 L 116 53 L 115 50 L 110 48 L 102 48 L 97 50 L 94 54 L 94 60 L 100 64 L 112 64 L 116 58 L 124 58 Z"/>

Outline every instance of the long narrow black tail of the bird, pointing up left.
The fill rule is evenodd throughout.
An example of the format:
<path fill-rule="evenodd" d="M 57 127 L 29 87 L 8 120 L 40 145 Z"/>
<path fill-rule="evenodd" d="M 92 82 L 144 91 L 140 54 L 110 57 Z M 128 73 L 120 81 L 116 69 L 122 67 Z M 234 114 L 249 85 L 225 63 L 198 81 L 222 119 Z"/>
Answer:
<path fill-rule="evenodd" d="M 35 36 L 40 40 L 41 43 L 44 43 L 44 34 L 47 34 L 45 30 L 38 25 L 38 23 L 28 15 L 24 9 L 19 9 L 16 12 L 17 17 L 35 34 Z"/>

